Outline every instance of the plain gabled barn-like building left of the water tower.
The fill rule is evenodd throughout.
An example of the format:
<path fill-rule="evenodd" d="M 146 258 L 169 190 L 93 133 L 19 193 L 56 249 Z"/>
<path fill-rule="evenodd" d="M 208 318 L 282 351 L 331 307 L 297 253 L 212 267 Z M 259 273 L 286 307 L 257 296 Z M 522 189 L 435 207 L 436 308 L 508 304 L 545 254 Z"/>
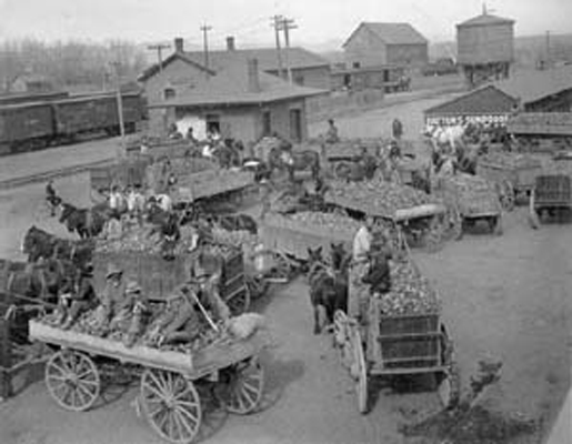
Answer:
<path fill-rule="evenodd" d="M 421 67 L 428 40 L 409 23 L 361 22 L 343 43 L 348 68 Z"/>

